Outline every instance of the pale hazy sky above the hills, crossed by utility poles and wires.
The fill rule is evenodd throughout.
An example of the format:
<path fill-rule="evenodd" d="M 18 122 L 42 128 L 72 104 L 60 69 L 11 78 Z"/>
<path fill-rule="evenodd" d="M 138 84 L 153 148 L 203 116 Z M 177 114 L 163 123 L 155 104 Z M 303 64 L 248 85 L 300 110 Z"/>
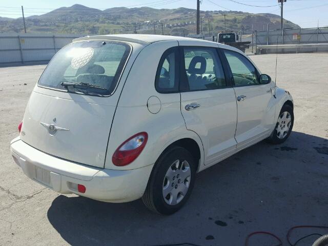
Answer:
<path fill-rule="evenodd" d="M 235 10 L 251 13 L 274 13 L 280 15 L 278 0 L 234 0 L 239 3 L 274 6 L 274 7 L 251 7 L 238 3 L 233 0 L 202 0 L 201 10 Z M 221 6 L 217 6 L 213 3 Z M 196 0 L 1 0 L 0 16 L 17 18 L 21 17 L 20 6 L 24 6 L 25 16 L 40 15 L 59 7 L 69 7 L 73 4 L 81 4 L 91 8 L 107 9 L 112 7 L 142 7 L 151 8 L 196 8 Z M 284 18 L 300 25 L 303 28 L 328 26 L 328 0 L 287 0 L 284 3 Z"/>

